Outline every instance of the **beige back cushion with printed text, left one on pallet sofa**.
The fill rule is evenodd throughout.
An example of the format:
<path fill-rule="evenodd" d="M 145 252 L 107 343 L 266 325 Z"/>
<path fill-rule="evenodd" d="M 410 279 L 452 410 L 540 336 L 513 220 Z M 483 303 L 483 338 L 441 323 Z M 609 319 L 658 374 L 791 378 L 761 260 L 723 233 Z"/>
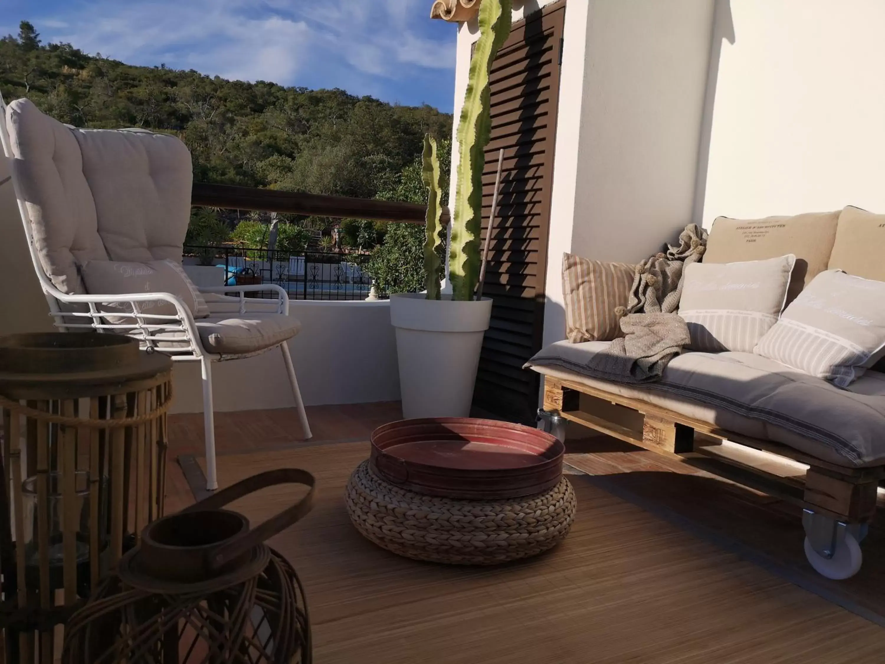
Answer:
<path fill-rule="evenodd" d="M 734 263 L 795 254 L 796 266 L 787 293 L 789 304 L 805 284 L 827 269 L 838 219 L 839 212 L 810 212 L 757 220 L 719 217 L 713 221 L 707 239 L 704 263 Z"/>

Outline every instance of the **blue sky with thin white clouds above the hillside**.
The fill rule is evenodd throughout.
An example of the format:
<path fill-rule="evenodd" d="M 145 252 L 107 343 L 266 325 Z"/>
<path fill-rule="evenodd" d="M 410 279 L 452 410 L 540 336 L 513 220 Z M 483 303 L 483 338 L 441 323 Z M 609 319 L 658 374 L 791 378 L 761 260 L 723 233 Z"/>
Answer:
<path fill-rule="evenodd" d="M 456 27 L 430 0 L 0 0 L 0 34 L 31 21 L 133 65 L 342 88 L 451 112 Z"/>

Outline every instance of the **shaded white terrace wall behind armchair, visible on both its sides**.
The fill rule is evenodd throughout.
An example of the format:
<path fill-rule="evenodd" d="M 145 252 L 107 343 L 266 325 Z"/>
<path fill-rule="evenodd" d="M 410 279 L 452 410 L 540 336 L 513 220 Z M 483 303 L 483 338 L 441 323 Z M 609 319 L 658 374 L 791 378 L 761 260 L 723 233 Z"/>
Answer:
<path fill-rule="evenodd" d="M 8 174 L 0 158 L 0 181 Z M 49 306 L 27 251 L 12 182 L 0 185 L 0 335 L 53 330 Z M 293 301 L 302 331 L 290 342 L 304 403 L 349 404 L 399 399 L 396 340 L 389 303 Z M 279 351 L 212 365 L 218 411 L 285 408 L 292 393 Z M 203 410 L 200 367 L 177 362 L 173 412 Z"/>

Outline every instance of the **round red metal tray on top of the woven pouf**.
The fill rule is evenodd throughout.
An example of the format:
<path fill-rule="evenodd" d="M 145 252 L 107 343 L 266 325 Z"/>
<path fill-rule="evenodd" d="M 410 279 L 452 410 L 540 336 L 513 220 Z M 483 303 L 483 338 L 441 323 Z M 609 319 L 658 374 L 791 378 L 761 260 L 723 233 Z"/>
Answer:
<path fill-rule="evenodd" d="M 372 432 L 371 464 L 389 483 L 443 498 L 518 498 L 562 476 L 565 446 L 539 429 L 495 420 L 402 420 Z"/>

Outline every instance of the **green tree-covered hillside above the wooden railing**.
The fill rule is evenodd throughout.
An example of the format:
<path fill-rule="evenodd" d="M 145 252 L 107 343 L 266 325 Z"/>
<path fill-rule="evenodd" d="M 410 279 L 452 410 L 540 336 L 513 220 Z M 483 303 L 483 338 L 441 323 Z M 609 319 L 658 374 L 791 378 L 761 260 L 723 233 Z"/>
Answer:
<path fill-rule="evenodd" d="M 66 43 L 43 44 L 27 21 L 0 39 L 0 90 L 76 127 L 145 127 L 187 143 L 197 181 L 376 197 L 399 188 L 422 137 L 451 116 L 341 89 L 285 88 L 165 66 L 130 66 Z"/>

